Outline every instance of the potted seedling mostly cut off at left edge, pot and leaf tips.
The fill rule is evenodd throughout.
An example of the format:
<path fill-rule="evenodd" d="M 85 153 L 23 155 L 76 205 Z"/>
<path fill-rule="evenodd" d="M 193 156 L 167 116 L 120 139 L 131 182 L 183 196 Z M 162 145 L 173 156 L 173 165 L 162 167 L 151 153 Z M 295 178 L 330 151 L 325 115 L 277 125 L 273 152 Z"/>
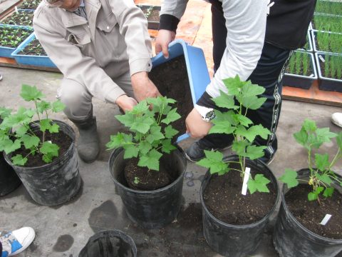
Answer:
<path fill-rule="evenodd" d="M 0 124 L 3 119 L 11 114 L 11 110 L 4 107 L 0 107 Z M 0 138 L 6 136 L 6 132 L 0 130 Z M 0 152 L 0 196 L 5 196 L 7 193 L 11 193 L 18 186 L 21 185 L 19 177 L 16 175 L 14 169 L 6 163 L 4 154 Z"/>

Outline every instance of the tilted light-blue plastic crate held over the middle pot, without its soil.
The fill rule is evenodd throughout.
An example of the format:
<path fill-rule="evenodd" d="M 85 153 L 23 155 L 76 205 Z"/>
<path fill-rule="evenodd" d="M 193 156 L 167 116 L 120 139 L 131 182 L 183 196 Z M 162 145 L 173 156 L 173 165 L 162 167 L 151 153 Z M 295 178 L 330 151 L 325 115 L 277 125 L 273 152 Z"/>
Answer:
<path fill-rule="evenodd" d="M 192 103 L 196 104 L 197 100 L 202 96 L 207 85 L 210 83 L 207 62 L 205 61 L 202 49 L 195 46 L 190 46 L 182 39 L 176 39 L 169 45 L 169 58 L 165 57 L 160 52 L 152 58 L 152 68 L 167 61 L 175 59 L 184 54 L 185 64 L 187 65 L 187 76 L 189 78 Z M 187 134 L 183 134 L 177 138 L 177 143 L 188 138 Z"/>

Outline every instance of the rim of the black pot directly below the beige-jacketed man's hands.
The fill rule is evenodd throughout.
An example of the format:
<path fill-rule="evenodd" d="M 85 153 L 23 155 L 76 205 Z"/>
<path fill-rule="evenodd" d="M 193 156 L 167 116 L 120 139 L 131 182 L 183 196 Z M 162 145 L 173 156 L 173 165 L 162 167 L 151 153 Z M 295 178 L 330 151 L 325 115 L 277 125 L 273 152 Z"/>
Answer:
<path fill-rule="evenodd" d="M 184 167 L 182 173 L 180 174 L 180 176 L 178 176 L 178 178 L 177 178 L 175 181 L 173 181 L 172 183 L 170 183 L 170 185 L 167 185 L 167 186 L 165 186 L 165 187 L 163 187 L 163 188 L 158 188 L 158 189 L 150 190 L 150 191 L 143 191 L 143 190 L 132 189 L 132 188 L 129 188 L 129 187 L 127 187 L 127 186 L 123 186 L 123 184 L 120 183 L 120 182 L 113 176 L 112 172 L 110 171 L 110 160 L 111 160 L 112 158 L 114 158 L 113 156 L 115 155 L 115 153 L 120 152 L 120 151 L 123 151 L 123 148 L 116 148 L 116 149 L 114 149 L 114 151 L 113 151 L 112 153 L 110 153 L 110 157 L 109 157 L 109 160 L 108 160 L 109 173 L 110 173 L 110 177 L 111 177 L 112 180 L 114 181 L 115 185 L 120 186 L 121 188 L 125 189 L 125 191 L 128 191 L 128 192 L 140 193 L 140 194 L 153 194 L 153 193 L 159 193 L 159 192 L 161 192 L 161 191 L 165 191 L 165 190 L 167 190 L 168 188 L 171 188 L 172 186 L 174 186 L 176 183 L 178 183 L 178 182 L 180 181 L 180 179 L 183 178 L 184 173 L 185 173 L 185 171 L 186 171 L 186 169 L 187 169 L 187 160 L 186 160 L 184 154 L 182 154 L 182 150 L 181 150 L 179 147 L 177 147 L 177 149 L 175 149 L 174 151 L 178 151 L 178 152 L 180 152 L 180 153 L 182 154 L 182 158 L 185 160 L 185 167 Z"/>

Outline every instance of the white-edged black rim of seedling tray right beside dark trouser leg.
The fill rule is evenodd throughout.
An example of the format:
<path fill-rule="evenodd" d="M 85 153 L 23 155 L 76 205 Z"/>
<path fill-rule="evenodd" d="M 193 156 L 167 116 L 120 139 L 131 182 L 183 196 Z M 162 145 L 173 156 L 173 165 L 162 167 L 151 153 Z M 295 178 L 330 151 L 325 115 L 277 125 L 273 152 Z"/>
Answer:
<path fill-rule="evenodd" d="M 316 65 L 314 62 L 314 54 L 307 53 L 310 56 L 310 67 L 313 71 L 313 74 L 311 76 L 304 76 L 304 75 L 298 75 L 298 74 L 284 74 L 283 84 L 284 86 L 292 86 L 300 89 L 310 89 L 314 81 L 318 79 L 317 71 L 316 71 Z"/>

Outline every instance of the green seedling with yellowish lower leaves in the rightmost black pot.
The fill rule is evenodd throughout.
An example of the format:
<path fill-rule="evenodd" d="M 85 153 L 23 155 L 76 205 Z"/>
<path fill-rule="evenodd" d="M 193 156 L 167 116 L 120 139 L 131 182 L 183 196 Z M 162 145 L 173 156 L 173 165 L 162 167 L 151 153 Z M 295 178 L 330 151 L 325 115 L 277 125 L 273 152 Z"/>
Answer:
<path fill-rule="evenodd" d="M 321 204 L 320 196 L 330 197 L 333 195 L 333 181 L 342 186 L 341 178 L 336 176 L 332 171 L 336 161 L 342 157 L 342 131 L 333 133 L 329 128 L 317 128 L 316 122 L 306 119 L 301 126 L 299 132 L 294 133 L 294 138 L 297 143 L 304 146 L 308 152 L 308 165 L 310 176 L 308 180 L 298 178 L 298 173 L 291 168 L 286 168 L 280 181 L 286 183 L 288 188 L 293 188 L 299 185 L 299 182 L 308 183 L 311 186 L 311 192 L 308 194 L 308 200 L 317 200 Z M 323 143 L 330 143 L 331 138 L 336 138 L 338 150 L 329 161 L 328 153 L 317 153 L 316 151 Z M 316 153 L 315 153 L 316 152 Z"/>

